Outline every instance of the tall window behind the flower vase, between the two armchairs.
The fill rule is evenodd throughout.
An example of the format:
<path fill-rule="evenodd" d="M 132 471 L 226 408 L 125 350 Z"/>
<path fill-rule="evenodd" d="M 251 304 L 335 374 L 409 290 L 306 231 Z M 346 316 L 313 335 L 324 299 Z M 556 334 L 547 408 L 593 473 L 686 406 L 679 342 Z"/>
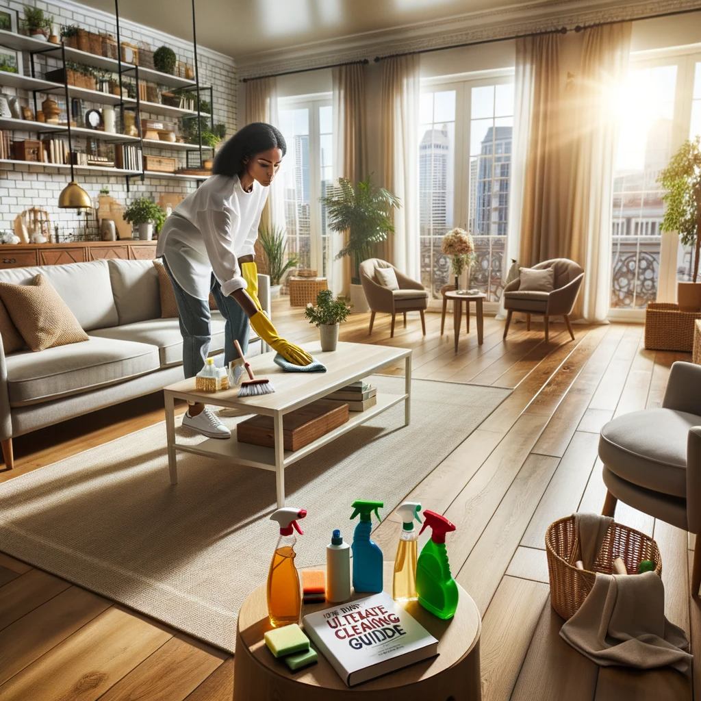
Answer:
<path fill-rule="evenodd" d="M 452 282 L 441 250 L 449 229 L 475 238 L 470 287 L 498 301 L 508 231 L 512 78 L 424 86 L 419 128 L 421 281 L 440 299 Z"/>

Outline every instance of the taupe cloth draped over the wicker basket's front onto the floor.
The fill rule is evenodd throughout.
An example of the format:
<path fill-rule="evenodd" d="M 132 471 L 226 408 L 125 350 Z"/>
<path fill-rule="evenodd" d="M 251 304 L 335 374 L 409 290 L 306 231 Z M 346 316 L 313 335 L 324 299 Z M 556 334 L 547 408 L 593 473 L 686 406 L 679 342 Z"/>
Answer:
<path fill-rule="evenodd" d="M 683 630 L 665 617 L 665 585 L 654 572 L 597 573 L 592 591 L 562 626 L 560 637 L 601 667 L 671 665 L 686 672 L 693 660 Z"/>

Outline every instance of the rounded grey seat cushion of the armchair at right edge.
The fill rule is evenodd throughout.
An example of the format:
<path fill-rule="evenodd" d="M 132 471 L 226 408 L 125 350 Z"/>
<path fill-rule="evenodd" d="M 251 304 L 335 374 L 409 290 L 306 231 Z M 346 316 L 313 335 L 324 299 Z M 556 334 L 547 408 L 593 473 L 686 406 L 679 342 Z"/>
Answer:
<path fill-rule="evenodd" d="M 701 416 L 673 409 L 623 414 L 601 429 L 599 457 L 627 482 L 671 496 L 686 496 L 686 443 Z"/>

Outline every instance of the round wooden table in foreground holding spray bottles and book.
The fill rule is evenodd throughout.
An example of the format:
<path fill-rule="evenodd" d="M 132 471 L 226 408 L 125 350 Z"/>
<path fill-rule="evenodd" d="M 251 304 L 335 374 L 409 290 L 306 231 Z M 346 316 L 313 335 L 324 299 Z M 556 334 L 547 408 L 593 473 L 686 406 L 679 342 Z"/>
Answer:
<path fill-rule="evenodd" d="M 315 566 L 311 569 L 325 569 Z M 393 562 L 384 568 L 384 590 L 392 591 Z M 475 602 L 460 585 L 458 610 L 451 620 L 440 620 L 412 601 L 405 607 L 438 639 L 437 657 L 398 669 L 385 676 L 348 687 L 319 653 L 311 667 L 290 672 L 266 647 L 263 634 L 270 630 L 266 587 L 248 597 L 238 613 L 234 655 L 234 701 L 334 701 L 361 698 L 368 701 L 479 701 L 479 634 L 482 620 Z M 354 595 L 361 599 L 368 594 Z M 302 615 L 331 604 L 302 606 Z"/>

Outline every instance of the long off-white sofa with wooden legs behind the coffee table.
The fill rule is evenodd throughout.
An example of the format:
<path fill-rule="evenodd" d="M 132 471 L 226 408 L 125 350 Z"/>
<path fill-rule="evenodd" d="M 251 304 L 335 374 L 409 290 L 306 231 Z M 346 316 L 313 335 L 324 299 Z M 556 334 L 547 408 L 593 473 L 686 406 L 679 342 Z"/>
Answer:
<path fill-rule="evenodd" d="M 5 355 L 0 340 L 0 440 L 7 468 L 12 439 L 67 418 L 146 395 L 183 378 L 177 318 L 161 318 L 150 260 L 99 260 L 0 270 L 0 282 L 29 284 L 43 273 L 90 336 L 39 353 Z M 270 313 L 270 278 L 258 276 Z M 224 351 L 224 317 L 212 311 L 210 355 Z M 254 334 L 250 343 L 260 341 Z M 261 343 L 250 355 L 261 352 Z"/>

